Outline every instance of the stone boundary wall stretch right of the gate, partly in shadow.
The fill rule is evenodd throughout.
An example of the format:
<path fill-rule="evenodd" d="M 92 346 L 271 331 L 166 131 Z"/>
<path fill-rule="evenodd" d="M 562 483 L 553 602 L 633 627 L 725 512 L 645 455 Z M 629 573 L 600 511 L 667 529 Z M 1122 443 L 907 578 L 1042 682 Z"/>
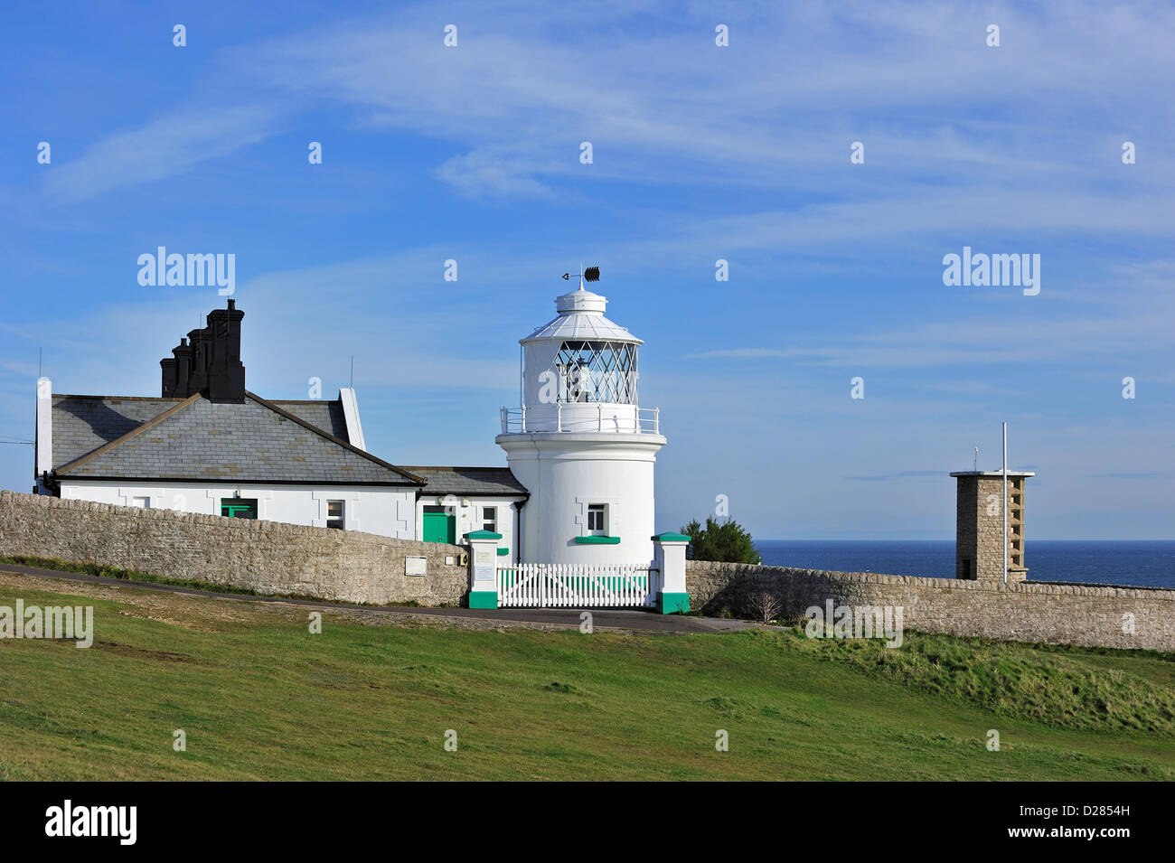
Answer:
<path fill-rule="evenodd" d="M 901 606 L 911 629 L 1010 641 L 1175 650 L 1175 591 L 1152 587 L 927 579 L 687 560 L 690 605 L 754 616 L 751 599 L 770 592 L 783 616 L 828 599 L 846 606 Z M 1134 634 L 1122 615 L 1134 615 Z"/>

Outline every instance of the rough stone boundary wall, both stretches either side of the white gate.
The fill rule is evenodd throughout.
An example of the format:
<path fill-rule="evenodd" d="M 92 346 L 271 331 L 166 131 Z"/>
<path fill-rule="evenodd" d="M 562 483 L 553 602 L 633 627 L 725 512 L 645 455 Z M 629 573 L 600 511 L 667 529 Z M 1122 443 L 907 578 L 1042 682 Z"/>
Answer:
<path fill-rule="evenodd" d="M 0 554 L 60 558 L 267 594 L 347 602 L 458 605 L 469 591 L 463 546 L 275 521 L 140 510 L 0 491 Z M 427 559 L 424 577 L 405 558 Z M 446 559 L 452 559 L 449 564 Z M 1175 591 L 1027 581 L 924 579 L 686 561 L 693 608 L 753 616 L 777 596 L 799 618 L 827 600 L 901 606 L 911 629 L 1096 647 L 1175 650 Z M 1133 633 L 1127 621 L 1133 621 Z"/>

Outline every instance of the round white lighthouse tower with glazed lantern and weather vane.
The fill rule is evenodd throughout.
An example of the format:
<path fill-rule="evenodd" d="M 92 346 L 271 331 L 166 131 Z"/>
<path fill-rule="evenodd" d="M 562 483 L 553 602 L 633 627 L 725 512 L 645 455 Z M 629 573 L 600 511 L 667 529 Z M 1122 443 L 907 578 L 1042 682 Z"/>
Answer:
<path fill-rule="evenodd" d="M 606 305 L 580 276 L 579 290 L 556 298 L 556 318 L 519 341 L 522 405 L 502 409 L 496 440 L 530 492 L 525 562 L 653 559 L 653 464 L 665 438 L 658 410 L 637 400 L 642 341 L 604 317 Z"/>

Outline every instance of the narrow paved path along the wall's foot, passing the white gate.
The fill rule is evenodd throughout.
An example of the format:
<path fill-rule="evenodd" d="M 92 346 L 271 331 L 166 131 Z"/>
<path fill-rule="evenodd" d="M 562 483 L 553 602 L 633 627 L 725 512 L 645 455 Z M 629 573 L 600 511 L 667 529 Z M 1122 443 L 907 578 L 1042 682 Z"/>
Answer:
<path fill-rule="evenodd" d="M 579 627 L 579 614 L 583 608 L 415 608 L 411 606 L 368 606 L 347 602 L 320 602 L 311 599 L 290 599 L 287 596 L 253 596 L 241 593 L 220 593 L 217 591 L 200 591 L 193 587 L 173 585 L 153 585 L 146 581 L 128 581 L 126 579 L 101 578 L 78 572 L 59 572 L 56 569 L 39 569 L 32 566 L 0 564 L 0 572 L 11 572 L 61 581 L 80 581 L 90 585 L 109 585 L 112 587 L 133 587 L 140 591 L 157 591 L 160 593 L 183 593 L 189 596 L 208 596 L 209 599 L 227 599 L 240 602 L 283 602 L 287 605 L 311 606 L 323 611 L 354 608 L 364 612 L 385 611 L 395 614 L 421 614 L 437 618 L 476 618 L 479 620 L 501 621 L 503 623 L 550 623 L 553 626 Z M 592 626 L 603 629 L 633 629 L 662 633 L 721 633 L 739 632 L 757 628 L 758 623 L 746 620 L 725 620 L 721 618 L 689 618 L 680 614 L 657 614 L 646 609 L 627 608 L 592 608 Z"/>

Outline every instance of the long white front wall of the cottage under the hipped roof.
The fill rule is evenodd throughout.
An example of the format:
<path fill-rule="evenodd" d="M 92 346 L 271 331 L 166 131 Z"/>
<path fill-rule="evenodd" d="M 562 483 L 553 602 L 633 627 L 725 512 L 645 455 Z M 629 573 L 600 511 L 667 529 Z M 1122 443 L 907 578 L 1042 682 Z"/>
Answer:
<path fill-rule="evenodd" d="M 224 485 L 194 483 L 125 484 L 62 481 L 61 497 L 115 506 L 134 506 L 135 498 L 150 498 L 153 510 L 176 510 L 220 515 L 224 498 L 257 499 L 257 518 L 290 525 L 327 526 L 327 501 L 344 500 L 348 531 L 381 537 L 416 539 L 416 490 L 378 486 Z"/>

